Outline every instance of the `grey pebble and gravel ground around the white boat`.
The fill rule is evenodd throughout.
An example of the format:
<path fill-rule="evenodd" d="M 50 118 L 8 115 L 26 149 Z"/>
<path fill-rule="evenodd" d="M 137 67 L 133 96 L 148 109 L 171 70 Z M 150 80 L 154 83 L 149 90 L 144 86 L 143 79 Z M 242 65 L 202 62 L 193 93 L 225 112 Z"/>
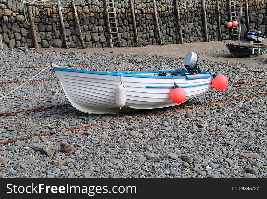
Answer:
<path fill-rule="evenodd" d="M 47 66 L 54 62 L 58 65 L 86 63 L 68 67 L 101 71 L 184 68 L 182 58 L 114 64 L 177 57 L 116 55 L 112 51 L 104 55 L 8 49 L 0 51 L 0 57 L 0 67 Z M 198 65 L 203 71 L 226 75 L 229 83 L 266 80 L 267 70 L 260 65 L 248 68 L 242 64 L 208 60 L 199 61 Z M 0 82 L 27 80 L 42 69 L 1 69 Z M 240 75 L 244 73 L 250 75 Z M 52 69 L 35 79 L 50 78 L 57 78 Z M 0 84 L 0 96 L 20 84 Z M 261 87 L 257 87 L 259 85 Z M 256 88 L 233 85 L 224 91 L 212 88 L 207 94 L 179 106 L 126 114 L 85 114 L 65 105 L 42 112 L 0 116 L 0 142 L 56 131 L 49 136 L 0 146 L 0 176 L 267 177 L 266 96 L 170 112 L 191 105 L 259 94 L 266 92 L 265 85 L 265 82 L 252 82 L 239 86 Z M 0 113 L 62 104 L 68 104 L 68 101 L 58 81 L 30 82 L 0 101 Z M 157 116 L 142 117 L 164 111 Z M 131 120 L 127 120 L 129 118 Z M 90 126 L 92 124 L 98 125 Z M 66 131 L 84 125 L 88 127 Z"/>

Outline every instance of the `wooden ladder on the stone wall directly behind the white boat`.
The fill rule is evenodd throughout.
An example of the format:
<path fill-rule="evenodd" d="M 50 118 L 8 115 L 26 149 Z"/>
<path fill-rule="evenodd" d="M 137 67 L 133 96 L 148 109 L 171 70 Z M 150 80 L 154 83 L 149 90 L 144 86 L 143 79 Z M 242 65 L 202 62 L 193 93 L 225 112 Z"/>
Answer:
<path fill-rule="evenodd" d="M 108 25 L 109 31 L 109 41 L 110 41 L 110 48 L 113 48 L 113 44 L 117 44 L 117 47 L 120 47 L 120 36 L 117 24 L 117 14 L 115 12 L 114 0 L 105 0 L 105 7 L 106 7 L 106 20 Z"/>

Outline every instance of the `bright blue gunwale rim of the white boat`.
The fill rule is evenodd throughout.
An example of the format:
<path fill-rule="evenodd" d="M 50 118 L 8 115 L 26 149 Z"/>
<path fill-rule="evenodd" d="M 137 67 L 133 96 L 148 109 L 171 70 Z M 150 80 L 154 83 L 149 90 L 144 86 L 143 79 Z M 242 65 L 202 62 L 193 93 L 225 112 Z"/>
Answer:
<path fill-rule="evenodd" d="M 158 73 L 160 71 L 163 72 L 187 72 L 186 70 L 158 70 L 158 71 L 90 71 L 90 70 L 83 70 L 83 69 L 75 69 L 75 68 L 63 68 L 63 67 L 53 67 L 54 70 L 58 71 L 68 71 L 68 72 L 80 72 L 80 73 L 89 73 L 89 74 L 97 74 L 97 75 L 112 75 L 112 76 L 123 76 L 123 77 L 137 77 L 137 78 L 161 78 L 161 79 L 178 79 L 178 78 L 184 78 L 186 79 L 190 75 L 166 75 L 166 76 L 157 76 L 157 75 L 139 75 L 138 73 Z M 203 72 L 201 71 L 198 73 L 200 75 L 203 74 L 209 74 L 212 76 L 212 73 L 209 72 Z M 198 75 L 198 74 L 192 74 L 192 75 Z M 210 77 L 209 77 L 210 78 Z M 202 78 L 199 78 L 202 79 Z M 207 79 L 207 77 L 204 77 L 203 79 Z"/>

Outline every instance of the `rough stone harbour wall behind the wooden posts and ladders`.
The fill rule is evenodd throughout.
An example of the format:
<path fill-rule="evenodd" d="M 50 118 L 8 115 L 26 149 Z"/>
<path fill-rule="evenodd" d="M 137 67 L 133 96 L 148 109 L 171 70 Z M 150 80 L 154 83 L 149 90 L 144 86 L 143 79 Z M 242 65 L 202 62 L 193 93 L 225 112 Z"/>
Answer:
<path fill-rule="evenodd" d="M 45 0 L 42 0 L 45 2 Z M 108 47 L 109 43 L 106 12 L 103 0 L 76 0 L 77 14 L 86 47 Z M 251 31 L 255 30 L 257 17 L 262 19 L 260 29 L 267 32 L 267 0 L 248 1 L 249 20 Z M 181 27 L 184 43 L 204 41 L 204 27 L 201 0 L 178 0 L 180 7 Z M 218 13 L 216 1 L 205 1 L 209 41 L 219 40 Z M 80 48 L 79 34 L 76 28 L 73 9 L 70 0 L 61 1 L 63 20 L 69 46 Z M 173 0 L 156 1 L 159 25 L 163 44 L 178 44 L 177 21 Z M 237 2 L 237 15 L 240 3 Z M 241 37 L 246 37 L 246 12 L 243 4 Z M 26 6 L 25 6 L 26 7 Z M 156 21 L 152 0 L 134 0 L 135 17 L 137 23 L 139 45 L 159 45 Z M 122 46 L 136 46 L 134 39 L 133 20 L 130 9 L 130 0 L 115 0 L 117 20 Z M 221 12 L 221 32 L 225 37 L 226 26 L 229 20 L 227 0 L 219 0 Z M 32 35 L 30 26 L 25 20 L 23 3 L 18 0 L 0 0 L 0 33 L 5 48 L 32 48 Z M 64 48 L 63 35 L 59 22 L 56 4 L 46 3 L 36 5 L 32 9 L 39 48 Z M 239 21 L 238 21 L 239 22 Z M 229 30 L 226 33 L 229 35 Z"/>

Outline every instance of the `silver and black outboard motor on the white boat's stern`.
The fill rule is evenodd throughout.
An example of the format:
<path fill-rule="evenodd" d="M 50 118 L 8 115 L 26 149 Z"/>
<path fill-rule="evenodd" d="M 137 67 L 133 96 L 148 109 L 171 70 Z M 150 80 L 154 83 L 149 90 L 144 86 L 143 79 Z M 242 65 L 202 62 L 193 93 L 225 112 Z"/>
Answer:
<path fill-rule="evenodd" d="M 197 67 L 198 64 L 198 54 L 195 52 L 188 52 L 184 58 L 184 66 L 190 74 L 196 74 L 200 72 L 200 69 Z"/>

